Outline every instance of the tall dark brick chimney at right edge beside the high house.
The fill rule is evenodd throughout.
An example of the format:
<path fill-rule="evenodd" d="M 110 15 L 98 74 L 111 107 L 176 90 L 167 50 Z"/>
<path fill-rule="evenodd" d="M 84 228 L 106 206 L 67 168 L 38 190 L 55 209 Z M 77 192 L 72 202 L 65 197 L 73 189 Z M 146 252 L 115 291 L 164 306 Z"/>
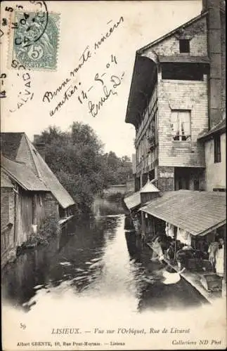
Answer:
<path fill-rule="evenodd" d="M 207 14 L 208 55 L 210 59 L 209 74 L 209 128 L 219 124 L 225 105 L 225 28 L 221 21 L 220 10 L 225 11 L 223 0 L 202 0 L 202 12 Z M 224 59 L 223 59 L 224 58 Z"/>

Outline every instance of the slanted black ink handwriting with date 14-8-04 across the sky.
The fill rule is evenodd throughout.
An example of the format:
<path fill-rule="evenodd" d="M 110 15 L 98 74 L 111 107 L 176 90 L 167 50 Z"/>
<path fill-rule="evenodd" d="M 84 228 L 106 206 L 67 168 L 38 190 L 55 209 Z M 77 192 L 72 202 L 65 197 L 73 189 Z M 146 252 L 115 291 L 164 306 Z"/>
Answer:
<path fill-rule="evenodd" d="M 103 35 L 98 41 L 96 41 L 93 46 L 86 46 L 84 49 L 82 55 L 79 58 L 79 63 L 74 69 L 72 69 L 62 83 L 54 90 L 54 91 L 46 91 L 43 95 L 42 101 L 45 103 L 49 103 L 52 100 L 55 100 L 55 98 L 60 94 L 63 93 L 63 97 L 61 100 L 57 103 L 55 107 L 53 107 L 52 110 L 50 110 L 49 114 L 50 116 L 53 116 L 58 112 L 65 103 L 70 100 L 72 97 L 76 97 L 77 100 L 80 102 L 80 104 L 84 104 L 86 102 L 86 105 L 88 107 L 88 112 L 91 114 L 92 117 L 96 117 L 98 112 L 100 111 L 100 108 L 103 106 L 104 102 L 106 102 L 111 95 L 117 95 L 117 88 L 118 86 L 122 83 L 122 79 L 124 77 L 124 72 L 121 74 L 110 74 L 108 77 L 107 72 L 103 72 L 102 74 L 99 74 L 96 72 L 93 77 L 93 85 L 91 85 L 89 88 L 84 88 L 82 86 L 82 82 L 79 81 L 77 84 L 72 84 L 72 79 L 77 77 L 77 73 L 79 72 L 84 65 L 86 65 L 86 62 L 91 60 L 93 58 L 93 54 L 95 51 L 97 51 L 100 46 L 104 43 L 106 39 L 108 39 L 112 33 L 117 29 L 117 27 L 124 22 L 124 18 L 121 16 L 117 22 L 115 22 L 106 32 L 105 35 Z M 112 20 L 108 22 L 109 24 L 112 24 Z M 110 62 L 107 62 L 105 65 L 105 69 L 109 69 L 111 65 L 117 65 L 117 58 L 115 55 L 110 56 Z M 105 80 L 104 80 L 104 76 Z M 100 83 L 103 85 L 102 89 L 102 95 L 98 99 L 98 101 L 93 101 L 92 98 L 89 98 L 89 92 L 93 89 L 96 88 L 96 84 Z"/>

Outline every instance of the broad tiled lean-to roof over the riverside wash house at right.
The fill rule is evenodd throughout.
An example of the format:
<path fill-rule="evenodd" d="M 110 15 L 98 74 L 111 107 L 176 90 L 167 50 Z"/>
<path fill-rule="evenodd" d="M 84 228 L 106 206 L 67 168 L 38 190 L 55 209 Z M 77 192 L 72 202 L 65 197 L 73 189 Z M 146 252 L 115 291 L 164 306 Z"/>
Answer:
<path fill-rule="evenodd" d="M 166 192 L 141 208 L 193 235 L 207 234 L 226 223 L 226 193 L 179 190 Z"/>

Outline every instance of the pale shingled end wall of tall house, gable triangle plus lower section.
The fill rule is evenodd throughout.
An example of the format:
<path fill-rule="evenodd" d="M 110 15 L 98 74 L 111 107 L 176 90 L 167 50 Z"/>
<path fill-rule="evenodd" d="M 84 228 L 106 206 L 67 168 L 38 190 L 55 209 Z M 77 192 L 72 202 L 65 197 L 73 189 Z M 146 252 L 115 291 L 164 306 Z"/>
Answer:
<path fill-rule="evenodd" d="M 187 55 L 206 56 L 206 17 L 148 48 L 143 55 L 152 58 L 153 51 L 157 55 L 184 55 L 179 52 L 179 39 L 190 39 L 190 54 Z M 173 143 L 171 110 L 190 110 L 191 142 Z M 160 166 L 205 166 L 205 152 L 202 146 L 197 145 L 197 135 L 208 130 L 207 75 L 204 75 L 203 81 L 184 81 L 162 80 L 161 72 L 158 73 L 157 128 Z"/>

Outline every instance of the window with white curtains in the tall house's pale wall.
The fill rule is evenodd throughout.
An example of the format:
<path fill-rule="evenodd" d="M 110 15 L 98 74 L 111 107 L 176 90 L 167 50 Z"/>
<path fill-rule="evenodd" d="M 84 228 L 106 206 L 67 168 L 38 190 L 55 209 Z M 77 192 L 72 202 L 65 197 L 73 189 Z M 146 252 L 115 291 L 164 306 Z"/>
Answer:
<path fill-rule="evenodd" d="M 190 140 L 190 111 L 173 110 L 171 112 L 171 131 L 173 140 Z"/>

